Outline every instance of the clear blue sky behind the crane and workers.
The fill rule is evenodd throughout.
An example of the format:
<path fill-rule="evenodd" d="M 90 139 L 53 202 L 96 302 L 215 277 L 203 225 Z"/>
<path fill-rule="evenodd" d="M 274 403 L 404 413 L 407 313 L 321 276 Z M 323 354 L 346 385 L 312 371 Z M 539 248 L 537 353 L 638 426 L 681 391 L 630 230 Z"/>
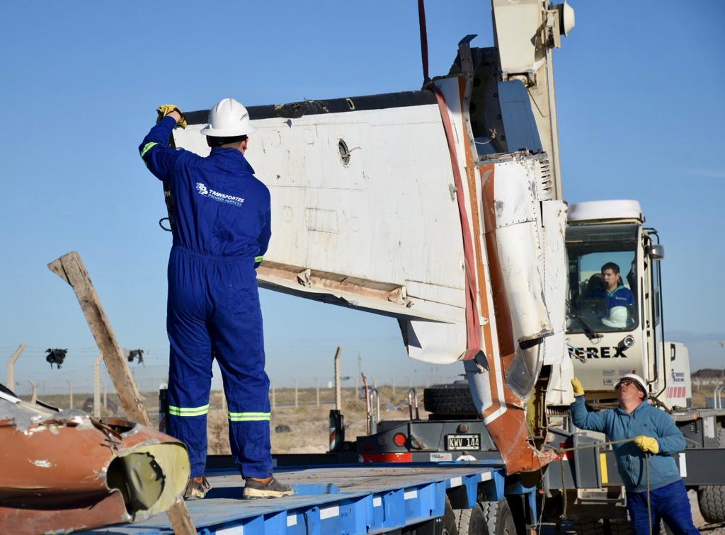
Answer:
<path fill-rule="evenodd" d="M 46 264 L 77 250 L 126 347 L 165 364 L 170 235 L 160 184 L 136 146 L 154 109 L 417 89 L 415 2 L 4 3 L 0 8 L 0 357 L 26 341 L 16 378 L 88 376 L 94 341 Z M 569 202 L 639 199 L 666 245 L 668 339 L 693 368 L 725 364 L 725 4 L 572 1 L 576 28 L 555 51 L 563 190 Z M 209 6 L 212 6 L 210 8 Z M 431 74 L 457 42 L 493 43 L 486 1 L 428 1 Z M 254 162 L 252 162 L 254 165 Z M 344 373 L 398 383 L 450 378 L 405 357 L 389 318 L 262 291 L 268 372 L 278 383 Z M 47 347 L 70 349 L 51 370 Z M 141 372 L 139 372 L 141 373 Z M 59 375 L 63 374 L 63 375 Z"/>

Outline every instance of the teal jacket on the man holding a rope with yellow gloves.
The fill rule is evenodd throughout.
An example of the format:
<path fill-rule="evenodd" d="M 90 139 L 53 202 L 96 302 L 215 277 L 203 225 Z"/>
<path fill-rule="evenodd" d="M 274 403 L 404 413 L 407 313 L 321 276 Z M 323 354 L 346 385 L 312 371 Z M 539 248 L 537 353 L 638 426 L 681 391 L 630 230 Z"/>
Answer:
<path fill-rule="evenodd" d="M 605 433 L 610 441 L 634 439 L 646 435 L 657 439 L 660 451 L 650 453 L 650 489 L 659 489 L 679 481 L 679 469 L 672 454 L 685 448 L 684 436 L 666 412 L 647 402 L 639 405 L 631 414 L 620 408 L 589 412 L 584 406 L 584 396 L 571 404 L 571 418 L 576 427 Z M 634 442 L 614 444 L 619 475 L 629 492 L 647 491 L 645 452 Z"/>

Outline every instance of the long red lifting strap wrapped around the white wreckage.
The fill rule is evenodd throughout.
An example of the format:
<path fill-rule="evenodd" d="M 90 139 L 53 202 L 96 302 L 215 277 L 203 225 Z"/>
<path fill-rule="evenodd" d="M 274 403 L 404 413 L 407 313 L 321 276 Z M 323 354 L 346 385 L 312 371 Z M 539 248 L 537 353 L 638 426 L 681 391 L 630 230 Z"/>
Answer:
<path fill-rule="evenodd" d="M 463 260 L 465 262 L 465 330 L 466 349 L 463 360 L 471 360 L 481 351 L 481 321 L 479 320 L 479 305 L 477 296 L 479 293 L 476 284 L 475 262 L 473 261 L 473 244 L 471 243 L 471 225 L 468 224 L 468 214 L 465 211 L 465 199 L 463 198 L 463 179 L 458 168 L 458 156 L 455 149 L 455 138 L 448 116 L 448 107 L 441 90 L 436 84 L 431 83 L 428 78 L 428 34 L 426 32 L 426 7 L 424 0 L 418 0 L 418 22 L 421 27 L 421 57 L 423 59 L 423 86 L 429 86 L 438 101 L 438 109 L 441 112 L 441 120 L 448 141 L 448 153 L 451 157 L 453 170 L 453 181 L 455 183 L 456 199 L 458 201 L 458 214 L 460 215 L 460 229 L 463 233 Z"/>

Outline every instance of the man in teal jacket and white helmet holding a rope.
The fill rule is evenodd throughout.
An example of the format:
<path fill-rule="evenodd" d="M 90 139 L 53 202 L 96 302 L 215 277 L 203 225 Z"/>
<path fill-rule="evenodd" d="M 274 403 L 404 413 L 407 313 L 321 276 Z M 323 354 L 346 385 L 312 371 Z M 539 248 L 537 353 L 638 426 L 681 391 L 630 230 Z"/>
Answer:
<path fill-rule="evenodd" d="M 587 411 L 579 379 L 573 378 L 571 386 L 575 396 L 571 418 L 576 427 L 605 433 L 610 441 L 631 439 L 613 444 L 613 448 L 635 533 L 648 535 L 651 528 L 658 535 L 661 519 L 674 534 L 699 534 L 692 523 L 687 490 L 672 457 L 685 448 L 684 436 L 666 412 L 646 401 L 645 381 L 634 373 L 622 376 L 614 387 L 619 406 L 599 412 Z M 648 499 L 651 518 L 647 514 Z"/>

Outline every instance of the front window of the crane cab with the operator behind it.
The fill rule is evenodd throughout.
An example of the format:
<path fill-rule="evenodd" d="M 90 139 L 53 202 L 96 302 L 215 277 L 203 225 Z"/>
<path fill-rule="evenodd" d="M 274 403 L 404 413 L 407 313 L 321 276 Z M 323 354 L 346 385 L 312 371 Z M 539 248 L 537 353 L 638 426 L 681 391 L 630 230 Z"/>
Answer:
<path fill-rule="evenodd" d="M 631 331 L 637 315 L 637 225 L 566 229 L 567 332 Z"/>

